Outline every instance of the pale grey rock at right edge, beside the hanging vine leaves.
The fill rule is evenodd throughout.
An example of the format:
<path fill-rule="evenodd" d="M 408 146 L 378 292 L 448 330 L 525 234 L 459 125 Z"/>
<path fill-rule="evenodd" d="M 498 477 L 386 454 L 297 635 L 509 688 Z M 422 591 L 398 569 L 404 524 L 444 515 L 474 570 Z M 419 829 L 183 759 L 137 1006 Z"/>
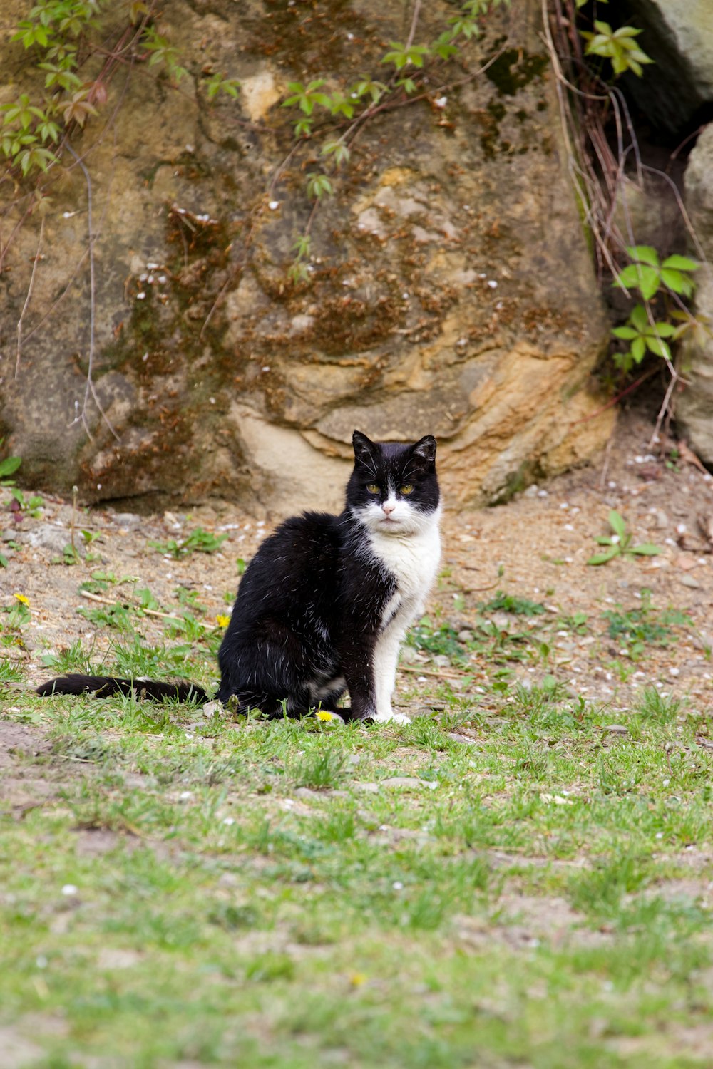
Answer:
<path fill-rule="evenodd" d="M 713 263 L 713 126 L 698 138 L 685 171 L 688 217 L 706 258 Z M 695 452 L 713 464 L 713 270 L 697 273 L 695 314 L 700 327 L 685 337 L 683 375 L 686 387 L 676 403 L 676 418 Z"/>

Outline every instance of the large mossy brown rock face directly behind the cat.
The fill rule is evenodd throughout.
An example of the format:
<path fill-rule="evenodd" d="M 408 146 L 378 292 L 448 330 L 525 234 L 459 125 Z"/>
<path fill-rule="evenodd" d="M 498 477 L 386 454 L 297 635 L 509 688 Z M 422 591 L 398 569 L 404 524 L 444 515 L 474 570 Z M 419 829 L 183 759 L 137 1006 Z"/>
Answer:
<path fill-rule="evenodd" d="M 339 506 L 355 427 L 435 434 L 462 503 L 590 456 L 613 419 L 589 378 L 608 328 L 536 6 L 493 13 L 456 84 L 366 123 L 314 211 L 306 173 L 322 164 L 295 151 L 288 83 L 383 77 L 403 4 L 168 5 L 190 77 L 115 79 L 77 145 L 86 172 L 48 183 L 24 314 L 36 213 L 7 252 L 0 433 L 25 477 L 89 501 L 219 495 L 282 513 Z M 452 11 L 423 5 L 416 40 Z M 9 44 L 2 60 L 6 99 L 25 61 Z M 211 68 L 241 79 L 237 100 L 208 104 Z M 25 210 L 7 205 L 5 232 Z M 313 212 L 309 280 L 293 283 Z"/>

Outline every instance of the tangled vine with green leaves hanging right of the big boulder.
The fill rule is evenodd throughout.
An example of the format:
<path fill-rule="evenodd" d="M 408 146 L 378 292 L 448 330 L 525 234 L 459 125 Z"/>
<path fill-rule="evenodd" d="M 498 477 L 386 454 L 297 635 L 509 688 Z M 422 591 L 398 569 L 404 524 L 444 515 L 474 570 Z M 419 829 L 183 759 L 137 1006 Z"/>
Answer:
<path fill-rule="evenodd" d="M 682 381 L 677 343 L 684 334 L 701 326 L 689 309 L 696 289 L 694 273 L 700 262 L 680 254 L 662 261 L 656 249 L 636 241 L 626 183 L 633 180 L 642 187 L 645 179 L 653 174 L 672 183 L 642 161 L 626 98 L 619 87 L 622 74 L 641 77 L 644 67 L 652 63 L 639 43 L 642 31 L 629 25 L 614 29 L 600 17 L 606 2 L 594 0 L 587 6 L 587 14 L 583 10 L 586 0 L 554 0 L 552 6 L 543 0 L 542 10 L 570 174 L 593 238 L 600 280 L 604 283 L 608 278 L 626 295 L 639 295 L 625 322 L 611 330 L 617 343 L 614 367 L 629 375 L 647 355 L 652 355 L 661 358 L 668 370 L 655 437 L 663 420 L 671 415 L 670 399 Z M 703 261 L 700 243 L 676 190 L 675 196 L 691 242 Z"/>

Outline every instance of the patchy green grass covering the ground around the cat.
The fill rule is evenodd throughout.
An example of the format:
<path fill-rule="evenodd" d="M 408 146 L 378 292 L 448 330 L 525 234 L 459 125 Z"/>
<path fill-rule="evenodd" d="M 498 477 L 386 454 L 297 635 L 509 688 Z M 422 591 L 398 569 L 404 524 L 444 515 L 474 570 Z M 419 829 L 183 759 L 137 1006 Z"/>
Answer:
<path fill-rule="evenodd" d="M 196 598 L 149 645 L 134 597 L 108 653 L 48 668 L 213 685 Z M 533 604 L 497 606 L 526 630 L 424 618 L 410 644 L 464 688 L 409 676 L 437 712 L 406 726 L 5 690 L 0 726 L 48 741 L 0 792 L 0 1036 L 24 1064 L 709 1065 L 712 752 L 680 698 L 615 715 L 543 676 L 567 621 Z M 0 687 L 24 678 L 0 661 Z"/>

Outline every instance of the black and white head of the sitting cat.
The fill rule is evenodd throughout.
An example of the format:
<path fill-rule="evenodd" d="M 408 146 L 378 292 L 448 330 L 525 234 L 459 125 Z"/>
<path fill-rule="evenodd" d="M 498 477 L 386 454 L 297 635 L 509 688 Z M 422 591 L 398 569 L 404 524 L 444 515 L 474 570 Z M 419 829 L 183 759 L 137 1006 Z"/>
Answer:
<path fill-rule="evenodd" d="M 431 434 L 413 446 L 371 441 L 355 431 L 354 470 L 346 507 L 371 531 L 413 534 L 438 518 L 436 439 Z"/>

